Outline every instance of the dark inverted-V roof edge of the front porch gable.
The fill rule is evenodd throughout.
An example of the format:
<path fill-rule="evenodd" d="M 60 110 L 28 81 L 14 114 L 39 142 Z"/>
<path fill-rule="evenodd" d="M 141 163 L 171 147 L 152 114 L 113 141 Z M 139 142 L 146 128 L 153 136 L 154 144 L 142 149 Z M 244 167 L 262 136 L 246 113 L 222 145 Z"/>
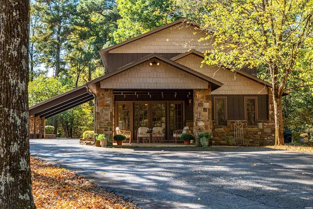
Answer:
<path fill-rule="evenodd" d="M 91 86 L 91 85 L 93 85 L 93 84 L 95 84 L 97 82 L 100 82 L 100 81 L 105 80 L 107 78 L 110 78 L 110 77 L 112 77 L 112 76 L 114 76 L 114 75 L 116 75 L 116 74 L 118 74 L 120 72 L 123 72 L 124 70 L 128 70 L 130 68 L 133 68 L 133 67 L 135 67 L 135 66 L 137 66 L 137 65 L 139 65 L 141 63 L 144 63 L 144 62 L 152 60 L 152 59 L 158 59 L 158 60 L 160 60 L 160 61 L 162 61 L 162 62 L 164 62 L 164 63 L 166 63 L 168 65 L 171 65 L 171 66 L 173 66 L 175 68 L 178 68 L 179 70 L 183 70 L 183 71 L 185 71 L 187 73 L 190 73 L 193 76 L 196 76 L 198 78 L 201 78 L 202 80 L 205 80 L 205 81 L 209 82 L 211 84 L 212 91 L 215 90 L 215 89 L 220 88 L 221 86 L 223 86 L 223 83 L 221 83 L 221 82 L 219 82 L 217 80 L 214 80 L 213 78 L 210 78 L 210 77 L 208 77 L 206 75 L 203 75 L 202 73 L 197 72 L 196 70 L 192 70 L 190 68 L 187 68 L 186 66 L 180 65 L 179 63 L 174 62 L 174 61 L 172 61 L 170 59 L 167 59 L 166 57 L 163 57 L 162 55 L 159 55 L 159 54 L 156 54 L 156 53 L 150 54 L 150 55 L 148 55 L 146 57 L 143 57 L 143 58 L 141 58 L 141 59 L 139 59 L 139 60 L 137 60 L 137 61 L 135 61 L 133 63 L 125 65 L 125 66 L 123 66 L 123 67 L 121 67 L 121 68 L 119 68 L 117 70 L 114 70 L 114 71 L 112 71 L 112 72 L 110 72 L 108 74 L 105 74 L 105 75 L 103 75 L 103 76 L 101 76 L 99 78 L 96 78 L 96 79 L 94 79 L 92 81 L 89 81 L 86 85 L 87 86 Z"/>

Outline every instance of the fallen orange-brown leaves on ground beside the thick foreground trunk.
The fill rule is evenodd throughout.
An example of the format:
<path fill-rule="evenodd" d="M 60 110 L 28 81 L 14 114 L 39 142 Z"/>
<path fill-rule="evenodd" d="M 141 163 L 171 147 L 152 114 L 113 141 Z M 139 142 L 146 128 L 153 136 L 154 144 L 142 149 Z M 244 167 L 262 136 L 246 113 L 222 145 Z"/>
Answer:
<path fill-rule="evenodd" d="M 32 191 L 37 209 L 138 209 L 132 202 L 84 177 L 30 158 Z"/>

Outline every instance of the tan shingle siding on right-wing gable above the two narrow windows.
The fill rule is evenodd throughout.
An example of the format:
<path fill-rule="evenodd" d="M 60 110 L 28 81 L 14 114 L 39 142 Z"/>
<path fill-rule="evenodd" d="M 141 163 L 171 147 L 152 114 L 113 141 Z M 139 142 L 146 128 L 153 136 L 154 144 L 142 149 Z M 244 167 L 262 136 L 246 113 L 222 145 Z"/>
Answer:
<path fill-rule="evenodd" d="M 212 91 L 212 95 L 219 94 L 266 94 L 268 95 L 268 88 L 265 84 L 258 83 L 249 78 L 246 78 L 238 73 L 230 70 L 219 68 L 218 66 L 203 65 L 201 68 L 201 61 L 203 59 L 194 54 L 187 55 L 179 60 L 177 63 L 184 65 L 190 69 L 196 70 L 208 77 L 220 81 L 224 85 Z"/>

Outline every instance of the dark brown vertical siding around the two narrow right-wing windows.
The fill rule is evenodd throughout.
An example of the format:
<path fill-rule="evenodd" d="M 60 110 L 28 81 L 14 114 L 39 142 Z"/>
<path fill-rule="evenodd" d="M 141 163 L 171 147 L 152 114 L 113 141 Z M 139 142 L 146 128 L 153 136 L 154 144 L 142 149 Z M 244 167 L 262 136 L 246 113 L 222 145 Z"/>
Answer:
<path fill-rule="evenodd" d="M 268 95 L 257 94 L 257 95 L 212 95 L 212 118 L 215 119 L 214 115 L 214 98 L 226 97 L 227 99 L 227 117 L 226 120 L 245 120 L 245 98 L 256 97 L 257 98 L 257 120 L 268 120 Z"/>

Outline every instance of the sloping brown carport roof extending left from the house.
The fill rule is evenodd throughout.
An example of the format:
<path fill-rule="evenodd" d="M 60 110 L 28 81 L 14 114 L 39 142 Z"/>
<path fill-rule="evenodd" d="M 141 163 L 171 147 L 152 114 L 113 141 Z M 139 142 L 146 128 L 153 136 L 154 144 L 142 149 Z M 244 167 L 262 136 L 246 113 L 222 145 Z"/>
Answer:
<path fill-rule="evenodd" d="M 49 118 L 91 101 L 93 98 L 94 96 L 87 91 L 86 86 L 80 86 L 29 107 L 29 115 Z"/>

